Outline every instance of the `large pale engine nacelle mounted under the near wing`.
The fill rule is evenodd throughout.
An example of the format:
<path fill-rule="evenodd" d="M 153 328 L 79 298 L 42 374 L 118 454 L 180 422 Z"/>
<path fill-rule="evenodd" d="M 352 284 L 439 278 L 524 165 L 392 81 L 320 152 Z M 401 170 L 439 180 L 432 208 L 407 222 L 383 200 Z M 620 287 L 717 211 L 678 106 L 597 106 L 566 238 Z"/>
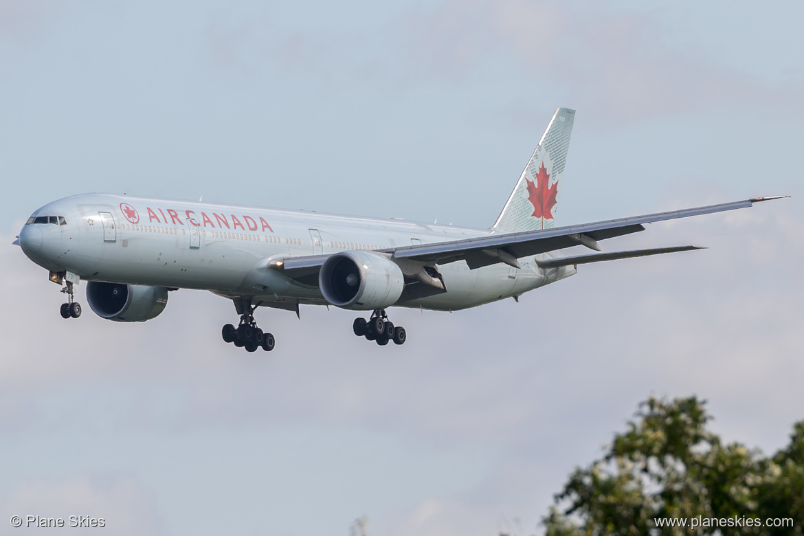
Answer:
<path fill-rule="evenodd" d="M 402 270 L 387 256 L 372 252 L 331 255 L 318 273 L 318 287 L 332 305 L 343 309 L 385 309 L 399 300 Z"/>

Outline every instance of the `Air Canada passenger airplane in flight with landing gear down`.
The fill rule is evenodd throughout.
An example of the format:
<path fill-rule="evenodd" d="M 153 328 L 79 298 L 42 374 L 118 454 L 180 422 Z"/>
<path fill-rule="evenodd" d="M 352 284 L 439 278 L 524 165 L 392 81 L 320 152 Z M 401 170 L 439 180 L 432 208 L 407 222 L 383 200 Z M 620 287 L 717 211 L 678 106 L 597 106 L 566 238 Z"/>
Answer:
<path fill-rule="evenodd" d="M 168 293 L 209 290 L 234 302 L 237 326 L 225 342 L 273 350 L 256 325 L 257 307 L 299 313 L 300 305 L 371 311 L 355 335 L 385 346 L 407 333 L 390 307 L 457 311 L 513 297 L 577 272 L 579 264 L 700 249 L 686 245 L 601 252 L 600 242 L 644 231 L 645 223 L 751 207 L 788 197 L 556 227 L 561 179 L 575 111 L 558 108 L 488 229 L 402 219 L 361 218 L 147 198 L 79 194 L 47 203 L 14 241 L 62 286 L 64 318 L 80 317 L 76 285 L 86 281 L 90 308 L 111 321 L 157 317 Z M 596 253 L 568 255 L 583 246 Z"/>

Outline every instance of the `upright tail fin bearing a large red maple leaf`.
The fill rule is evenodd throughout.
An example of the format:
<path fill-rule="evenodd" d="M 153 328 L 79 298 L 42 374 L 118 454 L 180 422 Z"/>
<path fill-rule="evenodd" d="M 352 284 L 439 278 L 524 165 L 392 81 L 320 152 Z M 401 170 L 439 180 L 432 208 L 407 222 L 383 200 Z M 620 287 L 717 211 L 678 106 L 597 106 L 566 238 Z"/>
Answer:
<path fill-rule="evenodd" d="M 553 227 L 575 110 L 558 108 L 511 197 L 491 228 L 500 232 Z"/>

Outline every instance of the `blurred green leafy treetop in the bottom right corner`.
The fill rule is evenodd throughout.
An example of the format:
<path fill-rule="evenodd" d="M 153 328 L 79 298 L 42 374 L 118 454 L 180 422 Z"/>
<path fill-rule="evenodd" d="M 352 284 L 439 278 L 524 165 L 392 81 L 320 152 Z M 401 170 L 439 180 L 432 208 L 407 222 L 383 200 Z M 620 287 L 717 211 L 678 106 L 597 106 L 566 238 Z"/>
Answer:
<path fill-rule="evenodd" d="M 543 519 L 547 536 L 802 536 L 804 422 L 772 457 L 710 432 L 705 401 L 650 398 L 601 460 L 576 468 Z M 794 526 L 656 526 L 655 518 L 793 518 Z M 753 523 L 753 521 L 752 521 Z M 703 523 L 702 523 L 703 524 Z"/>

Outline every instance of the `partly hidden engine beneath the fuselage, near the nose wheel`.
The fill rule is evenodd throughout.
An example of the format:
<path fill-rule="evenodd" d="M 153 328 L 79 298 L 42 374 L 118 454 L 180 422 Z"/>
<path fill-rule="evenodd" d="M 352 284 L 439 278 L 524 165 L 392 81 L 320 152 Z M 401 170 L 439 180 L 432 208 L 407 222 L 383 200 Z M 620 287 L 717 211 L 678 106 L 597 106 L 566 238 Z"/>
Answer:
<path fill-rule="evenodd" d="M 95 313 L 117 322 L 144 322 L 167 305 L 167 288 L 142 284 L 87 283 L 87 301 Z"/>

